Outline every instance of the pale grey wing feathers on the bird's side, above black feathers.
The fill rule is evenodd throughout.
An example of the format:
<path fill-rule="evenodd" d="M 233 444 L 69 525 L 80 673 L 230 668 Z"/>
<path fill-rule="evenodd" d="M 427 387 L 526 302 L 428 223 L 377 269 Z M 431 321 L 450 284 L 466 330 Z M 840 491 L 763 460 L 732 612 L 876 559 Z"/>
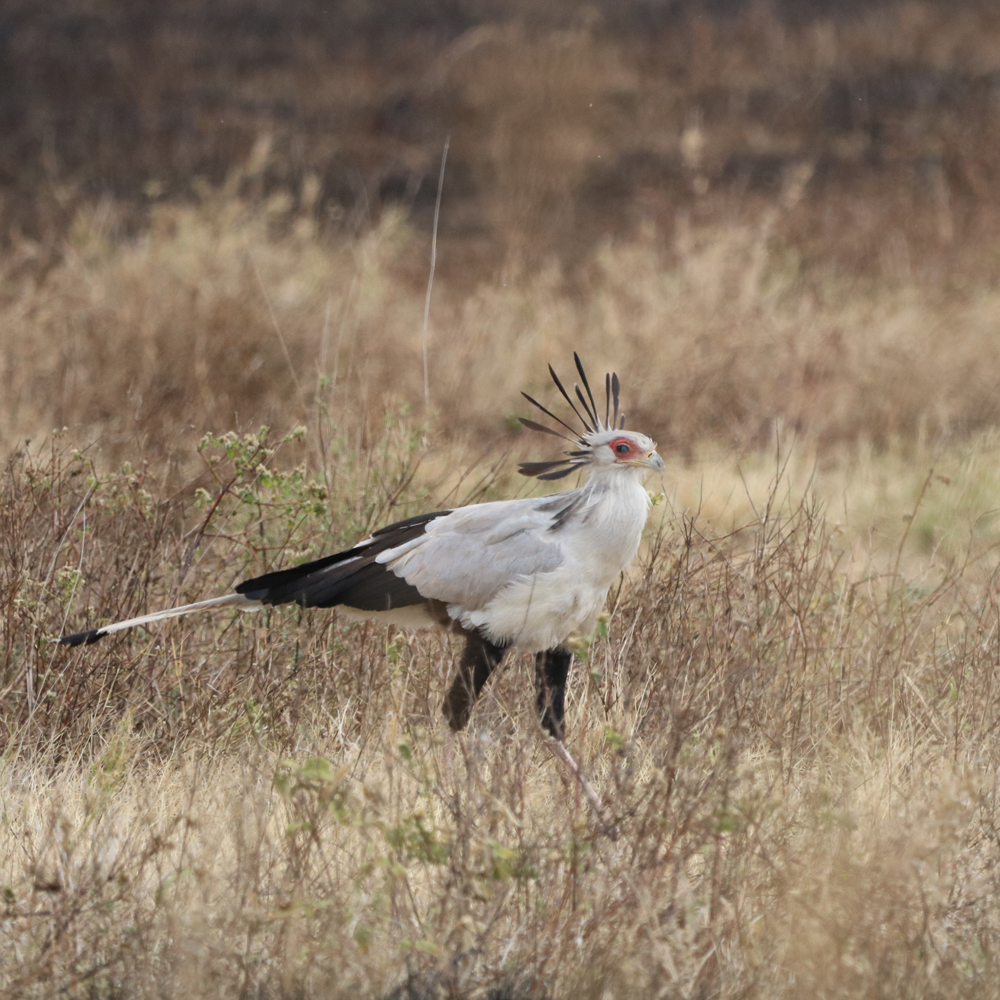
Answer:
<path fill-rule="evenodd" d="M 427 598 L 475 611 L 507 584 L 560 566 L 565 553 L 550 532 L 551 497 L 476 504 L 427 526 L 419 538 L 378 556 Z"/>

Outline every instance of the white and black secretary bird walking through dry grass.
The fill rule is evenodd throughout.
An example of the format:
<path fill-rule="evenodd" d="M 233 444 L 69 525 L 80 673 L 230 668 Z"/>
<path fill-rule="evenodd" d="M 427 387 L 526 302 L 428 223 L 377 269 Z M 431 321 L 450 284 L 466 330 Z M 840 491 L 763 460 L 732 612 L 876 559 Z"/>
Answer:
<path fill-rule="evenodd" d="M 605 376 L 601 420 L 580 358 L 576 353 L 573 358 L 586 390 L 585 396 L 573 386 L 582 413 L 551 365 L 549 373 L 584 432 L 577 434 L 522 393 L 573 436 L 525 417 L 518 418 L 521 423 L 574 448 L 554 461 L 522 462 L 519 471 L 553 480 L 585 470 L 589 475 L 579 488 L 418 514 L 379 528 L 346 552 L 245 580 L 232 594 L 64 635 L 58 642 L 90 644 L 112 632 L 209 608 L 256 611 L 291 602 L 337 607 L 350 618 L 407 628 L 445 626 L 465 636 L 444 702 L 451 728 L 465 726 L 490 674 L 517 646 L 536 654 L 539 721 L 561 743 L 572 660 L 567 640 L 593 630 L 608 589 L 635 558 L 650 505 L 642 480 L 649 470 L 663 471 L 655 443 L 624 430 L 617 374 Z"/>

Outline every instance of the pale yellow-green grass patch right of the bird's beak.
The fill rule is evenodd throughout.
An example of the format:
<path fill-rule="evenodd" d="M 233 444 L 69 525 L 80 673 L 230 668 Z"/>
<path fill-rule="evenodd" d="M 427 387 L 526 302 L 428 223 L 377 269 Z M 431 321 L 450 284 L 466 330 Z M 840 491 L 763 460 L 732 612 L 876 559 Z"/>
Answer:
<path fill-rule="evenodd" d="M 981 570 L 996 548 L 1000 438 L 993 430 L 948 444 L 896 440 L 884 450 L 862 442 L 824 452 L 792 435 L 743 454 L 706 444 L 694 461 L 670 463 L 666 497 L 712 530 L 732 531 L 756 520 L 779 469 L 786 502 L 811 496 L 822 503 L 851 578 L 888 569 L 897 557 L 913 577 Z"/>

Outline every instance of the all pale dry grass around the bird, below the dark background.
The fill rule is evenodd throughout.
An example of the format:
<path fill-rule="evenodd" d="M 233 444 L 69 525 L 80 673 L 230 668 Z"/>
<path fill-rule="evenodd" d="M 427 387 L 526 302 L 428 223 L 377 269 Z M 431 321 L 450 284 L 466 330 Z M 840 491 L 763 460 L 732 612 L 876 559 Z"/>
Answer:
<path fill-rule="evenodd" d="M 283 211 L 206 190 L 122 240 L 107 205 L 44 280 L 5 261 L 0 990 L 995 995 L 995 292 L 650 232 L 573 294 L 442 281 L 425 420 L 421 242 Z M 48 643 L 524 491 L 517 390 L 551 401 L 574 348 L 667 460 L 568 707 L 617 838 L 526 657 L 454 737 L 434 633 L 285 608 Z"/>

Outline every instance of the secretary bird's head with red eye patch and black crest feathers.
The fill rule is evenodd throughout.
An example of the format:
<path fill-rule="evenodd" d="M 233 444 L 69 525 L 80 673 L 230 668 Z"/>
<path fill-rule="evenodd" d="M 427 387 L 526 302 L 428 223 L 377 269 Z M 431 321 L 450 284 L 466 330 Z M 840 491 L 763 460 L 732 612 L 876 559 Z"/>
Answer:
<path fill-rule="evenodd" d="M 544 434 L 551 434 L 554 437 L 569 441 L 576 445 L 573 451 L 565 451 L 565 457 L 555 459 L 550 462 L 521 462 L 518 471 L 522 476 L 535 476 L 538 479 L 562 479 L 571 472 L 583 466 L 589 467 L 593 471 L 598 470 L 622 470 L 638 472 L 644 474 L 647 470 L 653 469 L 657 472 L 663 471 L 663 459 L 656 453 L 656 442 L 648 438 L 645 434 L 637 431 L 625 430 L 625 414 L 619 411 L 618 396 L 619 382 L 618 375 L 611 372 L 604 376 L 605 406 L 604 419 L 601 420 L 597 412 L 597 403 L 594 394 L 590 390 L 590 383 L 587 381 L 587 373 L 583 370 L 580 356 L 574 351 L 573 360 L 576 362 L 576 370 L 580 373 L 580 380 L 583 382 L 583 389 L 574 384 L 573 390 L 577 401 L 583 409 L 583 413 L 577 409 L 570 394 L 566 391 L 559 376 L 556 375 L 552 365 L 549 365 L 549 374 L 556 388 L 562 393 L 563 398 L 569 403 L 570 408 L 576 414 L 577 419 L 583 424 L 584 431 L 577 434 L 569 424 L 560 420 L 554 413 L 547 410 L 537 400 L 532 399 L 526 392 L 521 393 L 525 399 L 533 406 L 537 406 L 547 417 L 555 420 L 557 424 L 565 428 L 573 437 L 567 437 L 562 431 L 554 430 L 539 424 L 526 417 L 518 417 L 518 420 L 529 430 L 541 431 Z M 586 396 L 584 395 L 586 390 Z M 613 411 L 612 411 L 613 404 Z"/>

